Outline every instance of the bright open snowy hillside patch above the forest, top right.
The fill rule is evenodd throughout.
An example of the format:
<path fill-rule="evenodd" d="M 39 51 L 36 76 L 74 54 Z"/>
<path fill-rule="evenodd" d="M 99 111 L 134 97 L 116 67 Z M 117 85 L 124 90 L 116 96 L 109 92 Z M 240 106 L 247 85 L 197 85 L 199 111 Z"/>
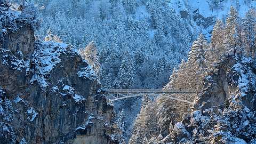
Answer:
<path fill-rule="evenodd" d="M 225 22 L 230 7 L 234 6 L 238 11 L 240 17 L 250 9 L 256 6 L 256 1 L 251 0 L 216 0 L 216 1 L 200 1 L 200 0 L 183 0 L 183 1 L 170 1 L 169 6 L 182 17 L 184 13 L 188 14 L 189 19 L 196 27 L 197 32 L 202 32 L 208 38 L 211 36 L 213 23 L 220 19 Z M 198 19 L 199 18 L 199 19 Z M 210 23 L 209 23 L 210 22 Z"/>

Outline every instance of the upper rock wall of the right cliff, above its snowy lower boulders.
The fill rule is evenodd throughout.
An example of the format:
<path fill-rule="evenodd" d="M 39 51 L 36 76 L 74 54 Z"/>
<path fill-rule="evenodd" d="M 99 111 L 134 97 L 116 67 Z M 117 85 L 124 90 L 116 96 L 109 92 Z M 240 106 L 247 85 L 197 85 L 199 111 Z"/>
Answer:
<path fill-rule="evenodd" d="M 215 71 L 209 71 L 204 83 L 204 91 L 197 103 L 202 110 L 226 107 L 231 95 L 242 95 L 243 104 L 255 109 L 255 61 L 247 58 L 224 58 Z"/>

